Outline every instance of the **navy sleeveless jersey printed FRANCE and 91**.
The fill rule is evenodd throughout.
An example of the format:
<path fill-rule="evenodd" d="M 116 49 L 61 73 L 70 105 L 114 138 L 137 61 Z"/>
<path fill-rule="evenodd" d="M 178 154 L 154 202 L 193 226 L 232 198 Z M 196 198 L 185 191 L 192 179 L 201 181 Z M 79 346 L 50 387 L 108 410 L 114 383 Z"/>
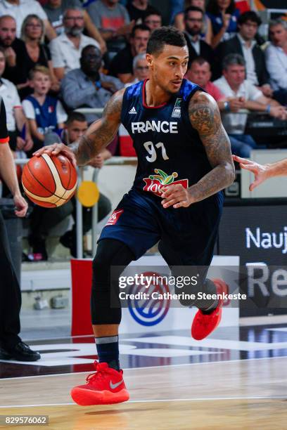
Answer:
<path fill-rule="evenodd" d="M 188 188 L 212 167 L 189 119 L 189 100 L 200 87 L 184 79 L 167 103 L 148 107 L 145 86 L 146 81 L 127 88 L 121 119 L 138 157 L 133 187 L 160 196 L 162 187 Z"/>

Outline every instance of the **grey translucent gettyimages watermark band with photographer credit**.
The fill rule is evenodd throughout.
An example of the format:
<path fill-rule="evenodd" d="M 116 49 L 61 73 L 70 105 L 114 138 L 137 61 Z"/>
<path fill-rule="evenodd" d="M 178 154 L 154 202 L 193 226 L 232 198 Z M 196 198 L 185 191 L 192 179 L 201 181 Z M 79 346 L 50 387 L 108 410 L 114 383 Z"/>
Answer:
<path fill-rule="evenodd" d="M 248 263 L 245 266 L 114 266 L 112 307 L 208 305 L 287 309 L 287 266 Z M 214 281 L 214 282 L 213 282 Z M 215 285 L 216 289 L 215 289 Z"/>

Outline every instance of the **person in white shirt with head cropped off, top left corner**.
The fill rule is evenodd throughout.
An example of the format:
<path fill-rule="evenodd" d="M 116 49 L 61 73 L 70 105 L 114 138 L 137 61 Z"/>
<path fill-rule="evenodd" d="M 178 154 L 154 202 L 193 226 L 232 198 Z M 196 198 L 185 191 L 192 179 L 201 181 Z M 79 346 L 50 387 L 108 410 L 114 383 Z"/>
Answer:
<path fill-rule="evenodd" d="M 27 15 L 37 15 L 44 22 L 46 36 L 49 40 L 56 37 L 56 32 L 53 30 L 46 12 L 36 0 L 0 0 L 0 15 L 10 15 L 15 18 L 17 25 L 17 37 L 20 37 L 23 20 Z"/>

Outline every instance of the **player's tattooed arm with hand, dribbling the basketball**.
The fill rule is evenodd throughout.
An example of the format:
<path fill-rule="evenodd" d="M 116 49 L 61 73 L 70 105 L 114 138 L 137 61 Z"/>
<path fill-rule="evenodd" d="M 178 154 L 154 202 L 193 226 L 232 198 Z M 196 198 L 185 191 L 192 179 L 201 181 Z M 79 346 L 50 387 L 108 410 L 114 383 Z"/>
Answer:
<path fill-rule="evenodd" d="M 87 129 L 84 136 L 79 138 L 79 141 L 67 146 L 63 143 L 53 143 L 53 145 L 45 146 L 34 155 L 39 157 L 45 152 L 49 155 L 57 155 L 62 153 L 70 159 L 76 166 L 87 164 L 89 160 L 93 159 L 100 153 L 106 146 L 113 141 L 115 133 L 120 126 L 120 114 L 122 111 L 122 97 L 125 89 L 117 91 L 103 110 L 103 117 L 98 121 L 93 122 Z"/>

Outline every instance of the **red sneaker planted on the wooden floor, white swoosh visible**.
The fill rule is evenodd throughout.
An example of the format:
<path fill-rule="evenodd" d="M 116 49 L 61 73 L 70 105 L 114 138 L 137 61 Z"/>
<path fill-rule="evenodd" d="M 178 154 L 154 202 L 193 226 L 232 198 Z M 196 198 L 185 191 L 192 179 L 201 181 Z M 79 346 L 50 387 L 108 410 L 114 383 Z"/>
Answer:
<path fill-rule="evenodd" d="M 129 400 L 122 370 L 119 372 L 108 363 L 95 361 L 96 373 L 87 377 L 85 385 L 75 386 L 71 391 L 72 400 L 81 406 L 109 405 Z"/>

